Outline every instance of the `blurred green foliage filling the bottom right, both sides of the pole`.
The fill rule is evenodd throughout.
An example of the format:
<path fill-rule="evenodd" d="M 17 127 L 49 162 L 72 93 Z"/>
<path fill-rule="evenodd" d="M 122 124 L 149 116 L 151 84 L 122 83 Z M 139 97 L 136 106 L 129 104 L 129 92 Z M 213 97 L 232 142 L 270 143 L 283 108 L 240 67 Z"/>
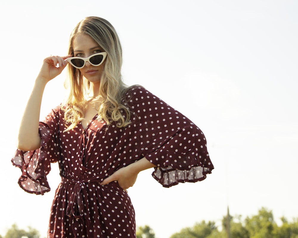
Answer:
<path fill-rule="evenodd" d="M 266 208 L 261 208 L 257 215 L 246 217 L 244 220 L 240 215 L 224 216 L 221 231 L 215 226 L 215 222 L 202 221 L 193 227 L 181 229 L 170 238 L 226 238 L 228 219 L 231 238 L 298 238 L 298 219 L 288 222 L 281 217 L 283 224 L 277 226 L 272 211 Z"/>

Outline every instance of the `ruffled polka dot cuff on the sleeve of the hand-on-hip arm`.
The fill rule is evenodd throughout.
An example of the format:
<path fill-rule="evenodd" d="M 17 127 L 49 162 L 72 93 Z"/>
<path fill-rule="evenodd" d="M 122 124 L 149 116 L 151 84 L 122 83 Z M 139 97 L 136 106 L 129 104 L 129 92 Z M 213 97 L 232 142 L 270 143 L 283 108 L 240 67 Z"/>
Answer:
<path fill-rule="evenodd" d="M 214 168 L 208 153 L 205 154 L 203 157 L 194 153 L 179 154 L 160 150 L 159 156 L 161 156 L 163 163 L 154 167 L 152 176 L 163 187 L 167 188 L 179 183 L 202 181 Z M 156 152 L 149 154 L 148 158 L 146 156 L 154 164 L 152 157 L 156 157 Z"/>

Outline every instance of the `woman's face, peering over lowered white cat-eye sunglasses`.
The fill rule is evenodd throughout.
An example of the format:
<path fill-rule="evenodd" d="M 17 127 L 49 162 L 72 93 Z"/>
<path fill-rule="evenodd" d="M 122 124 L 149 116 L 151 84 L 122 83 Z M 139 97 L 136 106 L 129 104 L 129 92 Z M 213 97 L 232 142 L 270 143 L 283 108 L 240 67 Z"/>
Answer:
<path fill-rule="evenodd" d="M 74 57 L 87 58 L 92 54 L 101 53 L 103 49 L 89 35 L 77 35 L 73 39 Z M 89 62 L 80 70 L 81 74 L 92 83 L 99 83 L 105 62 L 99 66 L 93 66 Z"/>

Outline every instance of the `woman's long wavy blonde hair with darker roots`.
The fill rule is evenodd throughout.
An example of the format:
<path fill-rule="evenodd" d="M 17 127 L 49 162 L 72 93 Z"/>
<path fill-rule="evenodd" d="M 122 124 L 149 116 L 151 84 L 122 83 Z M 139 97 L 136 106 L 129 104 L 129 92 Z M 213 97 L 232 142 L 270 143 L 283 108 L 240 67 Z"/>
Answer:
<path fill-rule="evenodd" d="M 113 121 L 117 127 L 125 127 L 130 122 L 130 112 L 121 104 L 127 86 L 122 81 L 122 48 L 114 27 L 100 17 L 86 17 L 80 21 L 69 38 L 68 54 L 73 55 L 73 40 L 77 35 L 89 35 L 107 53 L 105 65 L 100 78 L 99 93 L 102 103 L 98 109 L 98 120 L 104 120 L 108 125 Z M 84 118 L 87 101 L 84 95 L 88 92 L 90 82 L 83 77 L 80 70 L 68 64 L 69 78 L 65 82 L 69 96 L 65 101 L 64 119 L 69 131 Z"/>

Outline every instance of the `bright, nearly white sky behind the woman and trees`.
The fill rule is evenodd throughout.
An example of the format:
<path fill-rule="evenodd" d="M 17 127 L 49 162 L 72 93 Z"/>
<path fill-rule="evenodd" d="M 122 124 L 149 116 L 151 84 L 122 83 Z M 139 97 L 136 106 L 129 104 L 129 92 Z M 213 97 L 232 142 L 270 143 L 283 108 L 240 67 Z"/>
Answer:
<path fill-rule="evenodd" d="M 138 226 L 168 238 L 201 220 L 257 214 L 262 206 L 298 217 L 297 1 L 5 1 L 1 3 L 1 225 L 46 235 L 52 191 L 27 194 L 10 159 L 24 104 L 44 57 L 65 55 L 85 16 L 110 21 L 122 42 L 126 84 L 141 84 L 198 125 L 213 173 L 162 188 L 152 170 L 129 194 Z M 8 3 L 9 2 L 9 3 Z M 41 119 L 64 96 L 62 74 L 44 93 Z"/>

